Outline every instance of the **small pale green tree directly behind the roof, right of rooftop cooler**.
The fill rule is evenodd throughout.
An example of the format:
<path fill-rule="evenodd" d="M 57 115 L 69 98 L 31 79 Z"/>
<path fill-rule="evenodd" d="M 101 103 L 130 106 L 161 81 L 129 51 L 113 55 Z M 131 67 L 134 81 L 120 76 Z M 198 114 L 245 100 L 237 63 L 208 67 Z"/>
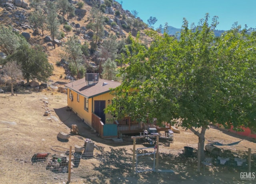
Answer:
<path fill-rule="evenodd" d="M 110 58 L 102 64 L 103 72 L 102 77 L 106 80 L 117 80 L 116 75 L 118 74 L 116 62 Z"/>

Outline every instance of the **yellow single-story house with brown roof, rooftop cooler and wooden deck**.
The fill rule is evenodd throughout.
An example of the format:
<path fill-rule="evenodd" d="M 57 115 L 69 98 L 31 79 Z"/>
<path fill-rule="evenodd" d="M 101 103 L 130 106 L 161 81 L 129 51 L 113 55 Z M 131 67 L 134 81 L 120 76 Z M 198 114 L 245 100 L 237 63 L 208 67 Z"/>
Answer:
<path fill-rule="evenodd" d="M 105 114 L 104 109 L 112 103 L 114 97 L 110 94 L 110 89 L 120 84 L 120 82 L 100 79 L 98 74 L 86 74 L 85 78 L 65 85 L 68 88 L 68 107 L 94 128 L 102 138 L 117 137 L 120 133 L 142 132 L 148 126 L 154 126 L 158 131 L 170 129 L 168 124 L 161 128 L 156 124 L 132 122 L 130 117 L 113 120 L 111 114 Z"/>

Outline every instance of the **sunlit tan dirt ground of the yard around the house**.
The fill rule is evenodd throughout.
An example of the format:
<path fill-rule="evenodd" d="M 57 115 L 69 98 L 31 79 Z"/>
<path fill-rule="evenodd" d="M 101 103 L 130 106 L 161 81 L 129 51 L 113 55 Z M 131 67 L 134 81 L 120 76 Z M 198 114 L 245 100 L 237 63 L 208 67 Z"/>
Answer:
<path fill-rule="evenodd" d="M 44 116 L 46 110 L 50 111 L 50 116 Z M 68 142 L 58 141 L 57 134 L 59 132 L 70 133 L 72 124 L 78 125 L 80 135 L 71 136 Z M 181 133 L 174 134 L 174 142 L 170 146 L 160 145 L 160 153 L 168 154 L 173 152 L 173 150 L 183 150 L 184 146 L 197 148 L 197 137 L 189 130 L 179 129 Z M 85 125 L 73 112 L 67 111 L 66 94 L 53 91 L 25 91 L 15 96 L 11 96 L 10 93 L 0 94 L 0 183 L 39 183 L 40 176 L 38 172 L 33 170 L 31 157 L 38 152 L 56 154 L 51 149 L 52 146 L 61 146 L 63 148 L 69 148 L 69 146 L 74 148 L 75 144 L 83 146 L 84 140 L 81 137 L 82 139 L 90 138 L 97 146 L 105 150 L 120 148 L 131 152 L 130 150 L 133 147 L 130 136 L 123 136 L 123 142 L 114 142 L 113 140 L 98 137 L 98 134 Z M 239 144 L 224 146 L 224 149 L 248 151 L 248 148 L 252 148 L 252 153 L 256 152 L 256 143 L 253 139 L 238 136 L 225 130 L 219 130 L 214 126 L 206 131 L 206 143 L 208 141 L 218 141 L 228 144 L 241 139 L 244 140 Z M 138 142 L 136 147 L 143 146 Z M 239 178 L 239 176 L 232 176 L 232 174 L 229 173 L 230 178 Z M 150 174 L 150 176 L 151 178 L 144 178 L 140 183 L 156 182 L 154 180 L 155 176 L 153 174 Z M 204 183 L 204 177 L 207 178 L 206 175 L 200 174 L 195 177 L 197 179 L 194 178 L 194 181 L 199 183 Z M 225 183 L 225 173 L 216 176 L 216 178 L 218 177 L 222 177 L 223 180 L 221 181 Z M 170 181 L 170 176 L 168 178 Z M 171 178 L 176 182 L 179 180 L 177 174 Z M 216 180 L 212 181 L 208 178 L 207 183 L 216 182 Z M 65 182 L 62 181 L 61 183 Z M 185 181 L 182 183 L 189 182 Z M 241 181 L 237 182 L 240 183 Z M 248 181 L 248 183 L 254 182 L 256 181 Z"/>

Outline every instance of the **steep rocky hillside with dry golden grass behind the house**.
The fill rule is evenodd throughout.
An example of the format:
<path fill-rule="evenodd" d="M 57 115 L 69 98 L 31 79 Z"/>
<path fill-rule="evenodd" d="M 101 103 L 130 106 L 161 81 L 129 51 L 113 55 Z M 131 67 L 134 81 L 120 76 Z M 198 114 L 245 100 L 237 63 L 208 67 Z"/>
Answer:
<path fill-rule="evenodd" d="M 5 2 L 4 0 L 0 2 Z M 56 1 L 55 1 L 56 2 Z M 33 47 L 35 45 L 41 45 L 44 48 L 44 52 L 46 52 L 48 56 L 48 62 L 54 66 L 54 72 L 52 76 L 50 76 L 49 81 L 50 82 L 69 82 L 69 80 L 65 79 L 65 76 L 67 75 L 67 71 L 65 71 L 65 68 L 58 66 L 58 63 L 64 58 L 65 51 L 64 51 L 64 44 L 68 40 L 68 38 L 72 37 L 73 35 L 77 35 L 81 45 L 84 43 L 88 43 L 89 49 L 90 49 L 90 42 L 92 42 L 92 37 L 88 36 L 88 32 L 93 32 L 91 28 L 87 28 L 87 24 L 89 24 L 92 21 L 91 18 L 91 11 L 92 7 L 97 7 L 98 10 L 100 10 L 100 7 L 102 5 L 101 1 L 97 0 L 78 0 L 77 2 L 70 1 L 73 6 L 76 8 L 74 16 L 68 20 L 67 16 L 64 16 L 65 23 L 60 24 L 59 26 L 59 36 L 58 40 L 60 41 L 60 44 L 56 44 L 56 48 L 54 48 L 49 42 L 45 42 L 44 38 L 46 36 L 50 36 L 50 31 L 46 29 L 46 25 L 44 28 L 44 36 L 42 36 L 42 33 L 39 29 L 39 34 L 34 34 L 34 28 L 32 24 L 30 24 L 29 16 L 31 16 L 31 13 L 34 10 L 34 8 L 30 7 L 30 1 L 28 3 L 28 7 L 22 8 L 20 6 L 16 6 L 14 4 L 14 8 L 10 10 L 8 9 L 9 5 L 6 3 L 0 4 L 0 24 L 5 26 L 12 26 L 13 30 L 18 31 L 20 34 L 26 32 L 29 33 L 30 38 L 28 39 L 28 42 Z M 85 10 L 86 14 L 81 15 L 80 13 L 77 13 L 80 11 L 77 4 L 79 2 L 84 3 L 84 6 L 81 8 L 81 10 Z M 107 7 L 108 8 L 108 7 Z M 116 2 L 112 1 L 112 6 L 110 7 L 111 10 L 114 13 L 102 13 L 104 18 L 106 20 L 110 20 L 109 22 L 105 21 L 104 26 L 104 32 L 108 33 L 108 36 L 110 34 L 114 34 L 117 37 L 117 42 L 120 40 L 125 40 L 129 34 L 132 34 L 133 36 L 136 36 L 137 32 L 140 31 L 143 36 L 142 42 L 145 42 L 148 44 L 148 39 L 146 38 L 145 34 L 143 33 L 145 29 L 147 28 L 147 25 L 140 20 L 140 18 L 134 18 L 134 16 L 128 11 L 123 10 L 122 6 Z M 79 10 L 79 11 L 78 11 Z M 100 10 L 102 11 L 102 10 Z M 120 15 L 116 16 L 115 12 L 120 12 Z M 58 18 L 61 18 L 61 12 L 58 11 Z M 132 21 L 130 25 L 130 29 L 124 29 L 122 28 L 122 22 L 127 21 L 128 19 Z M 110 23 L 114 22 L 114 23 Z M 70 25 L 72 26 L 72 30 L 68 31 L 65 30 L 64 25 Z M 76 28 L 79 24 L 79 28 Z M 62 34 L 62 36 L 60 36 Z M 64 36 L 63 36 L 64 34 Z M 98 63 L 97 55 L 96 53 L 100 51 L 101 44 L 105 39 L 108 39 L 108 36 L 105 34 L 102 38 L 99 39 L 98 46 L 95 52 L 90 52 L 89 56 L 84 56 L 84 64 L 93 64 L 94 66 L 97 66 Z M 96 59 L 95 59 L 96 58 Z M 88 65 L 87 65 L 88 66 Z M 86 67 L 86 66 L 85 66 Z M 88 66 L 89 68 L 90 66 Z M 90 72 L 90 70 L 86 68 L 87 72 Z"/>

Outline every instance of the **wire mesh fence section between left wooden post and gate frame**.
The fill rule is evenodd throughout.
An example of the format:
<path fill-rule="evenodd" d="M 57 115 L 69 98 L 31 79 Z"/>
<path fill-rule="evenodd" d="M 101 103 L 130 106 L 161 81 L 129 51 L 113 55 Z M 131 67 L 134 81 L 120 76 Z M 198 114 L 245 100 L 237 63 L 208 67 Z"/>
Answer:
<path fill-rule="evenodd" d="M 97 147 L 100 150 L 100 147 Z M 71 181 L 85 183 L 111 183 L 113 178 L 132 172 L 132 154 L 125 148 L 96 151 L 91 156 L 81 156 L 79 166 L 73 169 Z"/>

